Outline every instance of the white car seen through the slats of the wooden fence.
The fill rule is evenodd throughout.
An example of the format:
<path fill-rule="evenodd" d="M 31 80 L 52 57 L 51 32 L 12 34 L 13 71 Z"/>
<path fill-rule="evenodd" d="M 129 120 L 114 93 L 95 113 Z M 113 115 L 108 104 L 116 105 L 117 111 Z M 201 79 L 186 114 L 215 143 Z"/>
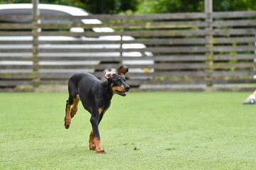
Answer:
<path fill-rule="evenodd" d="M 32 13 L 32 4 L 1 4 L 0 5 L 0 16 L 2 15 L 29 15 Z M 88 16 L 89 13 L 84 11 L 82 8 L 76 8 L 72 6 L 62 6 L 62 5 L 53 5 L 53 4 L 39 4 L 38 8 L 40 9 L 40 16 Z M 14 21 L 21 22 L 21 21 Z M 41 23 L 49 23 L 50 21 L 41 21 Z M 97 19 L 82 19 L 82 23 L 84 24 L 100 24 L 101 21 Z M 94 32 L 113 32 L 112 28 L 92 28 Z M 84 28 L 71 28 L 69 31 L 71 32 L 84 32 Z M 131 36 L 123 36 L 123 40 L 134 40 L 135 38 Z M 8 41 L 8 40 L 33 40 L 32 36 L 0 36 L 0 41 Z M 70 37 L 70 36 L 40 36 L 38 40 L 121 40 L 121 36 L 100 36 L 98 38 L 88 38 L 88 37 Z M 120 48 L 120 44 L 96 44 L 96 45 L 39 45 L 40 49 L 75 49 L 75 48 Z M 123 48 L 125 49 L 142 49 L 145 48 L 145 45 L 140 43 L 124 43 Z M 1 49 L 31 49 L 32 45 L 4 45 L 0 44 L 0 57 L 32 57 L 31 52 L 1 52 Z M 152 57 L 151 52 L 123 52 L 123 57 L 144 57 L 148 56 L 149 60 L 123 60 L 123 64 L 154 64 L 153 60 L 150 60 Z M 119 57 L 120 52 L 40 52 L 40 57 Z M 0 61 L 0 65 L 32 65 L 31 61 Z M 82 64 L 100 64 L 99 60 L 91 60 L 91 61 L 40 61 L 40 65 L 82 65 Z M 153 72 L 153 69 L 150 69 L 150 72 Z M 32 69 L 2 69 L 1 73 L 4 72 L 33 72 Z M 40 72 L 70 72 L 69 69 L 40 69 Z M 72 72 L 94 72 L 94 69 L 72 69 Z M 144 72 L 143 69 L 129 69 L 129 72 Z M 130 77 L 132 78 L 132 77 Z M 143 78 L 143 77 L 141 77 Z M 149 77 L 145 77 L 149 78 Z"/>

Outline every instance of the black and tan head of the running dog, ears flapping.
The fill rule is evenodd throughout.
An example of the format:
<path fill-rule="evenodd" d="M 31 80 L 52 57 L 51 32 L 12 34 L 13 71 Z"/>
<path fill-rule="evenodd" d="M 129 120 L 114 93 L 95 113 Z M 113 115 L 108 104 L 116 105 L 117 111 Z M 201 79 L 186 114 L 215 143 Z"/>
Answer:
<path fill-rule="evenodd" d="M 129 91 L 130 86 L 126 84 L 126 73 L 128 72 L 128 67 L 122 65 L 118 69 L 118 74 L 116 72 L 106 72 L 105 78 L 108 79 L 108 83 L 111 84 L 113 94 L 119 94 L 120 96 L 126 96 L 126 92 Z"/>

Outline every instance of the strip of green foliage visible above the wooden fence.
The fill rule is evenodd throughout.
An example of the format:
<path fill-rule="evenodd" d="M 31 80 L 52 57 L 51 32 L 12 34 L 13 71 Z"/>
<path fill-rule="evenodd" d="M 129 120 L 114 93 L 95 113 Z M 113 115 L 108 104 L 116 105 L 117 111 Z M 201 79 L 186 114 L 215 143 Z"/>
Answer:
<path fill-rule="evenodd" d="M 0 0 L 0 4 L 31 3 L 30 0 Z M 41 4 L 62 4 L 91 13 L 177 13 L 204 11 L 204 0 L 40 0 Z M 255 0 L 213 0 L 213 11 L 256 10 Z"/>

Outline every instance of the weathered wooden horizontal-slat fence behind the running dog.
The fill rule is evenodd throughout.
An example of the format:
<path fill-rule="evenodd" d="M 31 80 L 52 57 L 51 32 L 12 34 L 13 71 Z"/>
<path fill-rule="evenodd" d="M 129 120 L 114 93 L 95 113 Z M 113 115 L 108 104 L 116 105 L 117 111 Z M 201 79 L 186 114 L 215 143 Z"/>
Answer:
<path fill-rule="evenodd" d="M 0 16 L 1 91 L 67 84 L 75 72 L 101 78 L 122 63 L 143 91 L 256 82 L 256 11 L 38 17 Z"/>

